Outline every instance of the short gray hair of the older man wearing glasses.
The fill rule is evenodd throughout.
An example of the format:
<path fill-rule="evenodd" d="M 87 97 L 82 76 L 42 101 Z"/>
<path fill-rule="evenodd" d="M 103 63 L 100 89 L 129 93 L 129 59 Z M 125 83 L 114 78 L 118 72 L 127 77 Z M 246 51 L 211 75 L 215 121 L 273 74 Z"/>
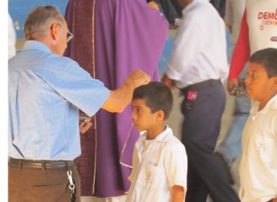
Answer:
<path fill-rule="evenodd" d="M 64 17 L 55 6 L 38 6 L 29 13 L 25 24 L 24 33 L 27 40 L 34 39 L 34 36 L 45 37 L 51 21 L 62 24 Z"/>

